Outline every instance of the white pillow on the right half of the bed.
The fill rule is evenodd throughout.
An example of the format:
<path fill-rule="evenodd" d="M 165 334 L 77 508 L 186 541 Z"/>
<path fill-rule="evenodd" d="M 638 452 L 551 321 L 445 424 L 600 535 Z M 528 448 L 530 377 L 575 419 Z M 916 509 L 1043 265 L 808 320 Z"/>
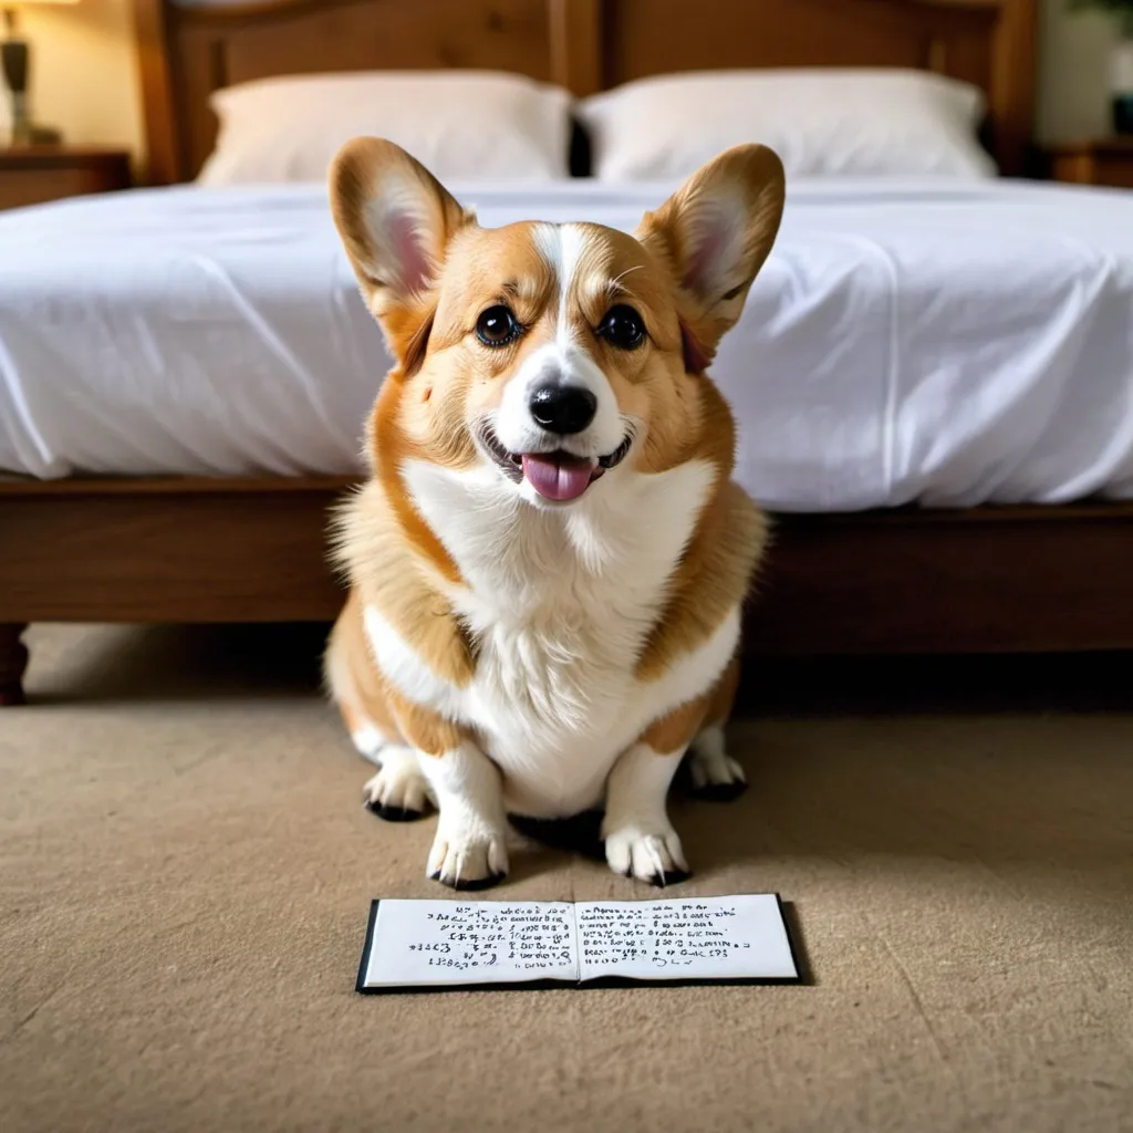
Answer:
<path fill-rule="evenodd" d="M 994 177 L 978 87 L 929 71 L 740 70 L 663 75 L 585 100 L 594 174 L 687 177 L 763 142 L 791 177 Z"/>

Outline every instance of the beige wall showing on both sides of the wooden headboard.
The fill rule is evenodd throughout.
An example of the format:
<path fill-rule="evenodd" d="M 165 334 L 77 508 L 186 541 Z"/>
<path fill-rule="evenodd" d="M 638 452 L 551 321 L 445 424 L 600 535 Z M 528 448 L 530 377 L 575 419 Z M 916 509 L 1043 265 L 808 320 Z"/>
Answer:
<path fill-rule="evenodd" d="M 131 0 L 83 0 L 77 7 L 26 7 L 20 18 L 35 48 L 32 93 L 37 120 L 62 127 L 71 142 L 126 145 L 139 155 L 143 126 L 131 8 Z M 1113 20 L 1098 12 L 1068 12 L 1066 0 L 1040 0 L 1040 9 L 1039 139 L 1105 133 Z M 7 108 L 2 113 L 0 134 Z"/>

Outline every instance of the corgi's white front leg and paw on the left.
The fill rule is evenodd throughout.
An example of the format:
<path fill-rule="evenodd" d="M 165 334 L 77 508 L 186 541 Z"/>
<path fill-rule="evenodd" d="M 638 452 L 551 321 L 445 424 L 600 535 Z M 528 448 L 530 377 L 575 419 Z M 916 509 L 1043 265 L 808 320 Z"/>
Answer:
<path fill-rule="evenodd" d="M 495 885 L 508 874 L 500 769 L 468 739 L 420 765 L 441 810 L 426 872 L 454 889 Z"/>

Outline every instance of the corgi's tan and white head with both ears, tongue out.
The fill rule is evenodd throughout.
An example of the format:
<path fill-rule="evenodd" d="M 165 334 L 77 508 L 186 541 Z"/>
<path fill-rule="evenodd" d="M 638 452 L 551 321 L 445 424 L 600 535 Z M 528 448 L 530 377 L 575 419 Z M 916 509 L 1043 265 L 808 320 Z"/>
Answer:
<path fill-rule="evenodd" d="M 783 195 L 778 157 L 744 145 L 636 238 L 486 229 L 403 150 L 349 143 L 331 170 L 334 220 L 397 363 L 372 421 L 380 463 L 491 468 L 540 506 L 620 466 L 715 453 L 730 469 L 731 419 L 704 397 L 704 370 L 770 252 Z"/>

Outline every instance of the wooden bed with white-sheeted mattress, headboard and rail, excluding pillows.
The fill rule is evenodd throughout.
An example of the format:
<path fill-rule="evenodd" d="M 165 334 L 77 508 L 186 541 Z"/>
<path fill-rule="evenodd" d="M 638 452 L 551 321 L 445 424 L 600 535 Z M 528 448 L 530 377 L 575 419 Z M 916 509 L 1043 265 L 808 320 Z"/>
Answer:
<path fill-rule="evenodd" d="M 214 90 L 449 67 L 588 95 L 690 69 L 915 67 L 986 93 L 1004 173 L 1021 173 L 1028 155 L 1033 0 L 705 0 L 695 20 L 680 0 L 137 0 L 136 11 L 151 180 L 163 188 L 138 190 L 128 213 L 109 198 L 24 213 L 18 236 L 0 218 L 0 244 L 25 246 L 8 256 L 20 266 L 0 305 L 9 373 L 22 358 L 42 375 L 31 397 L 23 384 L 0 390 L 0 467 L 16 474 L 0 482 L 8 701 L 19 699 L 29 621 L 326 620 L 341 602 L 325 512 L 360 470 L 381 340 L 332 254 L 320 188 L 176 187 L 213 148 Z M 485 222 L 534 210 L 617 227 L 665 189 L 458 186 Z M 744 421 L 738 475 L 777 516 L 751 606 L 753 654 L 1133 646 L 1133 364 L 1119 353 L 1133 351 L 1133 204 L 1083 191 L 937 187 L 926 225 L 922 185 L 792 187 L 750 316 L 714 367 Z M 1005 259 L 1005 225 L 1064 233 L 1057 270 L 1025 239 Z M 216 232 L 224 239 L 210 242 Z M 140 261 L 123 250 L 130 241 L 145 247 Z M 76 248 L 102 273 L 99 296 L 62 270 Z M 278 286 L 287 278 L 308 290 Z M 130 303 L 111 309 L 116 289 Z M 989 322 L 1005 299 L 1010 316 Z M 877 321 L 863 340 L 874 352 L 840 352 L 862 318 Z M 102 358 L 105 383 L 69 372 L 52 346 L 62 325 L 82 343 L 69 357 Z M 937 367 L 935 381 L 894 366 L 895 351 L 931 356 L 948 334 L 965 337 L 966 365 Z M 155 383 L 156 372 L 193 380 Z M 791 373 L 802 378 L 785 382 Z M 215 414 L 205 428 L 220 397 L 231 428 L 218 431 Z"/>

